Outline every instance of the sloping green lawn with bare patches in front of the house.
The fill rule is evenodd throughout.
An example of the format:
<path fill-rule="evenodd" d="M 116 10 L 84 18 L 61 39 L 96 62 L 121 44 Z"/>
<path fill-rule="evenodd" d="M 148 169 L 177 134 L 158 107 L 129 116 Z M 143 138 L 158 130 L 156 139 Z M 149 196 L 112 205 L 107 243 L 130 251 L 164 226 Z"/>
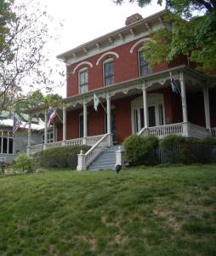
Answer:
<path fill-rule="evenodd" d="M 216 166 L 0 178 L 0 255 L 216 255 Z"/>

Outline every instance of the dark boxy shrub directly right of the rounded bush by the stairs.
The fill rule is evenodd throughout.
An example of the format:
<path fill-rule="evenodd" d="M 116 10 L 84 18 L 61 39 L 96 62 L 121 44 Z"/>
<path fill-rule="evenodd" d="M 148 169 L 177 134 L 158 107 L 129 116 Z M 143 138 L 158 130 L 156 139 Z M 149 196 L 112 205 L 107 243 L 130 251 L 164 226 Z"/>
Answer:
<path fill-rule="evenodd" d="M 160 148 L 162 148 L 165 157 L 168 159 L 169 163 L 182 163 L 180 151 L 184 143 L 185 137 L 178 135 L 169 135 L 162 138 L 162 140 L 160 141 Z"/>

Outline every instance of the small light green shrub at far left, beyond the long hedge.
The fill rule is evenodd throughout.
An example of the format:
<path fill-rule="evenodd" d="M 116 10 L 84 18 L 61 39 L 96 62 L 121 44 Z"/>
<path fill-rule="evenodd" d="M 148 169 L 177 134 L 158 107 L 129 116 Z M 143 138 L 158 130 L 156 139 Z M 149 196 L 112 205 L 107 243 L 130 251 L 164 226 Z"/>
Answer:
<path fill-rule="evenodd" d="M 13 165 L 11 166 L 14 172 L 35 172 L 37 164 L 32 155 L 20 153 L 14 159 Z"/>

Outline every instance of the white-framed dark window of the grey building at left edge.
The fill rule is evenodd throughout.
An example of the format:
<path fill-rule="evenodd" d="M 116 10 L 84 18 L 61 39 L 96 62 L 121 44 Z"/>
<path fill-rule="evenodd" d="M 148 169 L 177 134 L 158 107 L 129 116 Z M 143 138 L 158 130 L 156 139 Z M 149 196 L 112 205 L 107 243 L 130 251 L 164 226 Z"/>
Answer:
<path fill-rule="evenodd" d="M 13 141 L 11 131 L 0 131 L 0 153 L 13 154 Z"/>

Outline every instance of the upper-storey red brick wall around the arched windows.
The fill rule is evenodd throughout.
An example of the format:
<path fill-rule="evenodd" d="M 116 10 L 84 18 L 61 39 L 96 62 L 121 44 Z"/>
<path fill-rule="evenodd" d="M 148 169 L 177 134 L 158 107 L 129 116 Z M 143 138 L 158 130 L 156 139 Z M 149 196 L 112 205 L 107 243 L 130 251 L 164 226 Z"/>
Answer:
<path fill-rule="evenodd" d="M 139 77 L 139 61 L 137 50 L 143 45 L 143 43 L 137 45 L 134 49 L 134 53 L 130 54 L 131 47 L 138 40 L 139 39 L 109 50 L 116 52 L 119 55 L 119 58 L 114 55 L 105 55 L 105 57 L 99 62 L 99 66 L 96 66 L 96 62 L 104 53 L 88 57 L 84 60 L 91 62 L 93 67 L 89 67 L 86 64 L 81 65 L 74 74 L 72 74 L 72 70 L 82 61 L 67 67 L 67 96 L 75 96 L 78 94 L 78 72 L 83 67 L 88 68 L 88 90 L 94 90 L 103 87 L 103 61 L 108 58 L 114 59 L 115 83 Z M 168 63 L 162 63 L 154 67 L 153 70 L 154 72 L 159 72 L 166 68 L 168 68 Z"/>

